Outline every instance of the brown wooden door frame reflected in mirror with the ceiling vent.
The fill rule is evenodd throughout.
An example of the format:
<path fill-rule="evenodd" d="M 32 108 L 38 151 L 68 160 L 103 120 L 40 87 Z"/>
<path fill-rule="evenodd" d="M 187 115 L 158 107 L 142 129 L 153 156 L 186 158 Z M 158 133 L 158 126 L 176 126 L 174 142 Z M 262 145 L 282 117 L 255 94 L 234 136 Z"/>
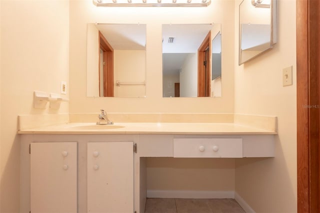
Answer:
<path fill-rule="evenodd" d="M 210 96 L 205 94 L 205 70 L 203 68 L 203 61 L 205 58 L 205 50 L 206 47 L 209 46 L 209 54 L 211 54 L 211 48 L 210 48 L 210 41 L 211 41 L 211 30 L 207 33 L 205 38 L 203 39 L 201 45 L 198 48 L 198 97 L 205 97 Z M 207 66 L 210 66 L 210 60 L 207 61 Z M 208 83 L 208 91 L 210 94 L 210 74 L 208 76 L 209 83 Z"/>

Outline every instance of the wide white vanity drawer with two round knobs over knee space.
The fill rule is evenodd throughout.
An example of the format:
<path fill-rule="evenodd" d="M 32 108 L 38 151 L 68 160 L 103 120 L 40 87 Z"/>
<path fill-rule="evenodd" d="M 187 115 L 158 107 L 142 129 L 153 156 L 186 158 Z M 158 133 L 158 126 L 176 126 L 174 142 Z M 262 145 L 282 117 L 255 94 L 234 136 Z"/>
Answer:
<path fill-rule="evenodd" d="M 174 138 L 173 157 L 242 157 L 242 138 Z"/>

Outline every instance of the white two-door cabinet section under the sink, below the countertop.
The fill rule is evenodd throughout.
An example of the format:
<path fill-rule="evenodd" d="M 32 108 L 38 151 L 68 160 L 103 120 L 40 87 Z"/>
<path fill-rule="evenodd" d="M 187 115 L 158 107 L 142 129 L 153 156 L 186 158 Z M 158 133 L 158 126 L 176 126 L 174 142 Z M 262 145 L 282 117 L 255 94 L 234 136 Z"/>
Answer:
<path fill-rule="evenodd" d="M 134 212 L 134 136 L 21 138 L 20 212 Z"/>

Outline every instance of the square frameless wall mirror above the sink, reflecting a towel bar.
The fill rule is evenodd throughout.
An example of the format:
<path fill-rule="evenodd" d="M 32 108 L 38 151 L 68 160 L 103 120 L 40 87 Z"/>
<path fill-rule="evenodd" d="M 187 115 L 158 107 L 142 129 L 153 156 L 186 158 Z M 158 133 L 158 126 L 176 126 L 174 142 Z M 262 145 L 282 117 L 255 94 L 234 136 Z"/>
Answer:
<path fill-rule="evenodd" d="M 145 96 L 145 32 L 145 24 L 87 24 L 87 96 Z"/>

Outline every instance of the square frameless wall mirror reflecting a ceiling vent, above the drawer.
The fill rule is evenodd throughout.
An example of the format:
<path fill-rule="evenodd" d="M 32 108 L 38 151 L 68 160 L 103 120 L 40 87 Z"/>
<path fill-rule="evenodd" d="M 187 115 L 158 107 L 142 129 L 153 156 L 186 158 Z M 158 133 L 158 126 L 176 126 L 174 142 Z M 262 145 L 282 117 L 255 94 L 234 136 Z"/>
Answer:
<path fill-rule="evenodd" d="M 221 95 L 220 36 L 221 24 L 162 24 L 163 97 Z"/>

